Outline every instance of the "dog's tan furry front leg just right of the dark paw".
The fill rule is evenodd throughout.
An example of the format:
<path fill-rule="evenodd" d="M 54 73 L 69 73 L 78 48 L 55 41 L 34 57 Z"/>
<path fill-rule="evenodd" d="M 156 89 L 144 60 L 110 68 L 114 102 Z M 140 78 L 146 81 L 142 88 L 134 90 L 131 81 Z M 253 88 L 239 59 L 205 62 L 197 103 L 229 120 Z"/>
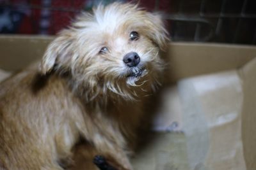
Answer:
<path fill-rule="evenodd" d="M 122 166 L 122 169 L 132 170 L 125 152 L 127 145 L 124 136 L 118 125 L 103 115 L 96 113 L 93 118 L 87 114 L 84 114 L 83 118 L 77 117 L 75 121 L 80 134 L 95 148 L 98 155 L 113 160 L 112 162 Z"/>

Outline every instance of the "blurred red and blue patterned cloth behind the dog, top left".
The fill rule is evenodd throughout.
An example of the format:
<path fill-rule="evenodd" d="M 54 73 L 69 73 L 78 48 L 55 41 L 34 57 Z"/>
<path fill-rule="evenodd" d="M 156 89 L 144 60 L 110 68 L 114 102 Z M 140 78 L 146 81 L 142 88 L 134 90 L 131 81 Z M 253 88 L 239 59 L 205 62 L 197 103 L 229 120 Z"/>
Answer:
<path fill-rule="evenodd" d="M 124 0 L 123 0 L 124 1 Z M 131 1 L 131 0 L 126 0 Z M 0 0 L 0 33 L 56 34 L 67 27 L 81 10 L 91 10 L 97 0 Z M 105 0 L 103 3 L 111 3 Z M 168 2 L 168 1 L 166 1 Z M 155 0 L 141 0 L 140 5 L 154 10 Z M 159 6 L 163 8 L 163 6 Z"/>

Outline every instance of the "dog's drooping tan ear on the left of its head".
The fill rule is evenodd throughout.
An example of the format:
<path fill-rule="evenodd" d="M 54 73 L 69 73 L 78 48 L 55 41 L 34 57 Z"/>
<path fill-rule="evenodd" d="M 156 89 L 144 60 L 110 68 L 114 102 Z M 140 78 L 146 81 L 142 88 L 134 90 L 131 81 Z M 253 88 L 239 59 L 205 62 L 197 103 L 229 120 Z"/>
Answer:
<path fill-rule="evenodd" d="M 72 46 L 74 46 L 72 32 L 68 29 L 61 31 L 47 47 L 40 63 L 40 72 L 42 74 L 49 73 L 55 64 L 63 69 L 67 68 L 72 57 Z"/>

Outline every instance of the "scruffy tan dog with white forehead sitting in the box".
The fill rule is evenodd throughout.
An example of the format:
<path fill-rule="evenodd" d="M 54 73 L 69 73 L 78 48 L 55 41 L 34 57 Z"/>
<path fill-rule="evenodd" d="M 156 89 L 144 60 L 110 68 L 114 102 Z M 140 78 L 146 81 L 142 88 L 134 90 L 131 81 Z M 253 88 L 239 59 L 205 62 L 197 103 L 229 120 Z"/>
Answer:
<path fill-rule="evenodd" d="M 99 5 L 79 15 L 40 64 L 0 84 L 0 169 L 65 169 L 83 141 L 92 151 L 88 162 L 97 155 L 98 167 L 100 158 L 131 170 L 168 41 L 161 16 L 138 4 Z"/>

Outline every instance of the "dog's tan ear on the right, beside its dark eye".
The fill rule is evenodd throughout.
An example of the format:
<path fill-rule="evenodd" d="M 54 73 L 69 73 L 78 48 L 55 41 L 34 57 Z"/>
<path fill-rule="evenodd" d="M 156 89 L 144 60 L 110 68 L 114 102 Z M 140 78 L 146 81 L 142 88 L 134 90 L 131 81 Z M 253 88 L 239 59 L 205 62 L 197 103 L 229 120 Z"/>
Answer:
<path fill-rule="evenodd" d="M 168 42 L 170 42 L 168 31 L 164 27 L 163 17 L 159 13 L 147 12 L 147 32 L 150 39 L 159 46 L 161 50 L 165 50 Z"/>

